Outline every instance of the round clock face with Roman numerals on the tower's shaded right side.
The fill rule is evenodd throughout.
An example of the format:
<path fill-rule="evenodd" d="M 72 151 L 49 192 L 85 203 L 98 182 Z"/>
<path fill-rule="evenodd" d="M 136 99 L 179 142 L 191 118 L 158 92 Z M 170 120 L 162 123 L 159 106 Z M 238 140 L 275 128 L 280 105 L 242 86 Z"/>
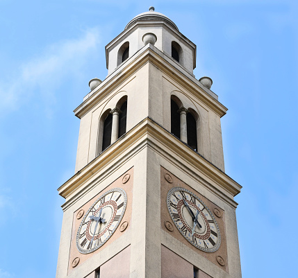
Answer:
<path fill-rule="evenodd" d="M 167 193 L 167 209 L 179 232 L 204 252 L 220 247 L 220 229 L 210 209 L 194 193 L 174 187 Z"/>

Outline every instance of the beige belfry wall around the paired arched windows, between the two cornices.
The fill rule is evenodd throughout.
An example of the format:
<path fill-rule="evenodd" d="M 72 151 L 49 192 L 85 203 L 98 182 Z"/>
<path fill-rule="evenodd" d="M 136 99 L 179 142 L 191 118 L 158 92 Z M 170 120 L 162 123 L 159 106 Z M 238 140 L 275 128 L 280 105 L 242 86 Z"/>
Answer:
<path fill-rule="evenodd" d="M 147 62 L 132 75 L 126 76 L 124 73 L 122 82 L 108 87 L 105 94 L 98 94 L 98 101 L 81 116 L 75 172 L 101 152 L 102 124 L 99 120 L 107 110 L 113 110 L 123 96 L 128 98 L 126 131 L 147 116 L 166 130 L 171 130 L 170 99 L 171 96 L 179 98 L 185 108 L 194 111 L 199 117 L 198 152 L 224 171 L 221 115 L 202 101 L 190 85 L 203 94 L 199 87 L 190 81 L 190 84 L 179 81 L 162 71 L 154 62 Z"/>

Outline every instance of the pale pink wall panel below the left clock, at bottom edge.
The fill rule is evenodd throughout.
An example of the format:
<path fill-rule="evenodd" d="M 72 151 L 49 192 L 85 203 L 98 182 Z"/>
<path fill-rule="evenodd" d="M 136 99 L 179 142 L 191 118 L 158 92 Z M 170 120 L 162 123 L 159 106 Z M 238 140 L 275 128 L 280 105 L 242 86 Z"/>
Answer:
<path fill-rule="evenodd" d="M 130 259 L 131 246 L 126 247 L 100 267 L 100 278 L 129 278 Z"/>

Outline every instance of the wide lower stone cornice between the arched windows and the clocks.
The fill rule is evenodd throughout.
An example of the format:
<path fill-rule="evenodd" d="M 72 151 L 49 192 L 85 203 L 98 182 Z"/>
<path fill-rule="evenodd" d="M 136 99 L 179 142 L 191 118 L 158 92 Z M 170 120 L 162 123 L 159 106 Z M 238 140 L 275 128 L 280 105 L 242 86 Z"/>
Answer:
<path fill-rule="evenodd" d="M 147 147 L 179 166 L 232 207 L 237 206 L 233 197 L 240 193 L 240 184 L 158 123 L 146 118 L 58 188 L 60 196 L 66 198 L 63 209 Z"/>

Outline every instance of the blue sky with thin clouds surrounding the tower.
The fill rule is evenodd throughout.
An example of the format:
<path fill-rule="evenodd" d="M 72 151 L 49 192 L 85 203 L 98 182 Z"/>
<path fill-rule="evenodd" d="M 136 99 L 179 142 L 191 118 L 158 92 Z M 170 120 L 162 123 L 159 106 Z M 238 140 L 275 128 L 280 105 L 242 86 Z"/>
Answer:
<path fill-rule="evenodd" d="M 297 264 L 298 4 L 292 0 L 0 0 L 0 278 L 54 277 L 88 82 L 104 46 L 155 6 L 197 45 L 213 78 L 235 200 L 242 277 L 293 277 Z"/>

